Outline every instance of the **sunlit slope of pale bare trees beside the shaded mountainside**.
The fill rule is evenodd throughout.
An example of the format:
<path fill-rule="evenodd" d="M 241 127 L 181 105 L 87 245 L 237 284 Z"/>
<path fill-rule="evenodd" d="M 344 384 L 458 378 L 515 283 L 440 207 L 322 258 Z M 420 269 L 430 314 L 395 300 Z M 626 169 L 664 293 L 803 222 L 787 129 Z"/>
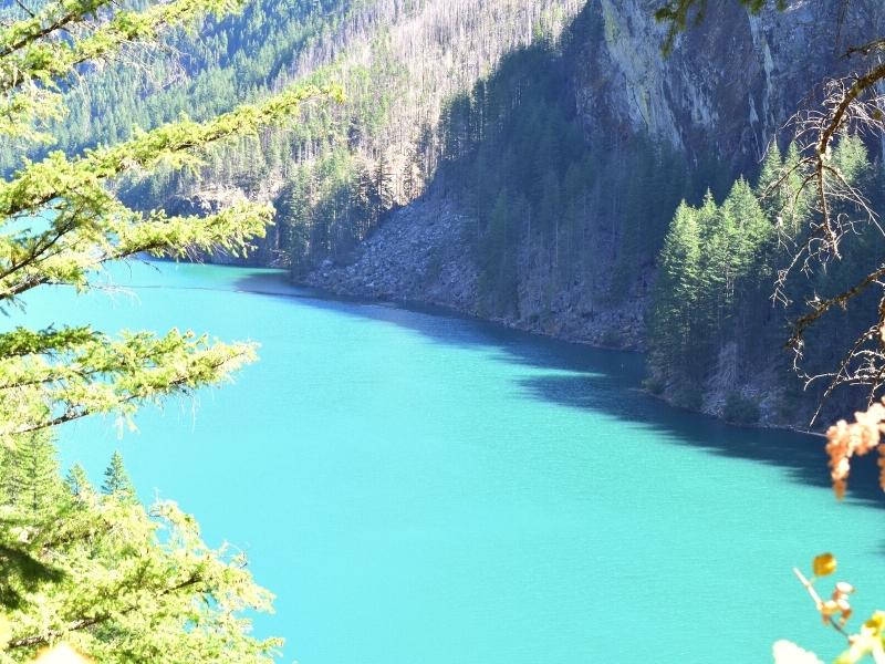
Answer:
<path fill-rule="evenodd" d="M 216 151 L 199 173 L 127 183 L 129 198 L 176 211 L 211 209 L 219 197 L 269 200 L 278 209 L 277 226 L 253 262 L 303 273 L 326 257 L 344 258 L 385 214 L 424 190 L 448 143 L 459 139 L 441 133 L 450 100 L 504 54 L 559 39 L 580 8 L 580 0 L 331 3 L 320 12 L 329 24 L 313 27 L 310 49 L 294 44 L 280 64 L 269 56 L 278 73 L 251 94 L 294 80 L 334 81 L 346 91 L 342 106 L 309 110 L 295 127 Z M 240 43 L 233 38 L 240 30 L 221 27 L 219 40 L 231 35 Z M 274 41 L 274 31 L 268 39 Z M 230 76 L 231 68 L 216 61 L 208 71 Z"/>

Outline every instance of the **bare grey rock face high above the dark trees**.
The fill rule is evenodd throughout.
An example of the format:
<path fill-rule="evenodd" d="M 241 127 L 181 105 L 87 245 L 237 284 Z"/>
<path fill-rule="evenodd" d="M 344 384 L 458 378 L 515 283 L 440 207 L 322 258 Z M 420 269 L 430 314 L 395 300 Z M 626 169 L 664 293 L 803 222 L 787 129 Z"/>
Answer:
<path fill-rule="evenodd" d="M 885 4 L 794 0 L 751 17 L 738 2 L 710 2 L 701 28 L 662 58 L 665 28 L 656 0 L 600 0 L 597 34 L 575 70 L 577 105 L 594 127 L 645 132 L 698 158 L 712 154 L 743 168 L 824 76 L 855 63 L 839 55 L 881 35 Z M 770 3 L 773 4 L 773 3 Z"/>

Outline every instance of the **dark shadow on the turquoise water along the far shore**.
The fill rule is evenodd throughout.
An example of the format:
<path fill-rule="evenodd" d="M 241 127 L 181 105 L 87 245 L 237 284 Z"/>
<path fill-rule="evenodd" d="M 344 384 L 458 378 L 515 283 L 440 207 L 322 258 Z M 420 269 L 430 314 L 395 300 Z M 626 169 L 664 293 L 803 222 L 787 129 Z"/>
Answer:
<path fill-rule="evenodd" d="M 830 486 L 820 436 L 738 427 L 668 406 L 639 390 L 644 372 L 639 353 L 556 341 L 441 308 L 334 297 L 293 287 L 278 274 L 257 273 L 239 280 L 237 286 L 243 291 L 293 297 L 310 307 L 395 324 L 436 343 L 492 349 L 503 361 L 545 370 L 544 375 L 519 381 L 528 398 L 603 413 L 653 429 L 673 444 L 779 466 L 794 481 L 821 488 Z M 852 498 L 884 505 L 875 463 L 856 464 L 850 487 Z"/>

